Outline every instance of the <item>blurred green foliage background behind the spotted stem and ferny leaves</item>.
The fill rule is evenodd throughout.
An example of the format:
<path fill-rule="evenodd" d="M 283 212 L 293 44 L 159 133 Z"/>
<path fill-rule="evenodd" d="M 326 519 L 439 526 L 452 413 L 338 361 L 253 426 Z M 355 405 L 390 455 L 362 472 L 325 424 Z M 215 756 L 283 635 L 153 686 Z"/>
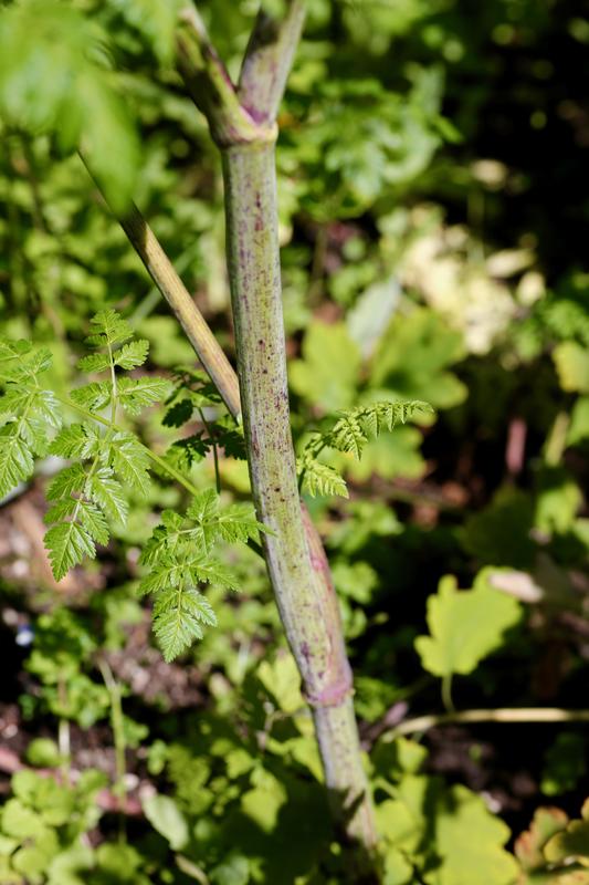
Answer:
<path fill-rule="evenodd" d="M 233 74 L 255 6 L 199 3 Z M 186 374 L 192 351 L 75 153 L 116 211 L 138 204 L 232 355 L 219 159 L 171 66 L 175 11 L 162 0 L 0 7 L 2 335 L 48 347 L 48 386 L 67 397 L 86 381 L 76 365 L 91 317 L 120 311 L 150 345 L 145 376 L 185 367 L 167 409 L 132 416 L 138 445 L 186 471 L 201 502 L 219 448 L 222 507 L 243 516 L 239 433 Z M 390 885 L 587 881 L 582 726 L 391 740 L 386 717 L 443 711 L 450 679 L 459 708 L 587 706 L 588 43 L 587 0 L 313 0 L 281 111 L 303 466 L 341 410 L 434 408 L 362 438 L 359 460 L 322 449 L 307 477 L 313 492 L 343 492 L 341 475 L 349 492 L 308 504 L 341 602 Z M 52 403 L 41 405 L 51 418 Z M 2 446 L 9 437 L 4 426 Z M 39 509 L 54 470 L 42 460 L 19 494 Z M 27 769 L 0 812 L 0 882 L 341 882 L 259 559 L 221 538 L 239 594 L 213 581 L 217 627 L 158 681 L 138 556 L 149 565 L 149 538 L 171 525 L 162 514 L 185 512 L 190 496 L 165 471 L 139 491 L 128 492 L 128 525 L 113 524 L 108 546 L 74 573 L 67 606 L 46 575 L 2 553 L 14 680 L 1 704 L 13 711 L 19 698 Z M 7 532 L 18 500 L 3 500 Z M 34 629 L 22 649 L 19 625 Z M 94 733 L 103 754 L 82 764 Z M 448 774 L 440 748 L 456 741 L 464 758 Z M 71 782 L 70 766 L 83 769 Z M 56 778 L 36 772 L 53 768 Z M 105 787 L 140 805 L 126 840 Z"/>

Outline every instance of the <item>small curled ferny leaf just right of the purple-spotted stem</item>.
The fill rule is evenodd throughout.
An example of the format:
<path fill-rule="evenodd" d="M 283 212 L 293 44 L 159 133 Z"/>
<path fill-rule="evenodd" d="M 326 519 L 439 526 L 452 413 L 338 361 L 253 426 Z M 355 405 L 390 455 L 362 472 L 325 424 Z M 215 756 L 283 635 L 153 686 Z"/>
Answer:
<path fill-rule="evenodd" d="M 413 399 L 407 403 L 371 403 L 339 413 L 334 426 L 324 433 L 316 431 L 298 459 L 299 487 L 309 494 L 340 494 L 348 497 L 345 480 L 329 465 L 319 460 L 324 449 L 335 449 L 354 455 L 358 460 L 364 447 L 385 430 L 404 424 L 416 412 L 432 412 L 428 403 Z"/>

